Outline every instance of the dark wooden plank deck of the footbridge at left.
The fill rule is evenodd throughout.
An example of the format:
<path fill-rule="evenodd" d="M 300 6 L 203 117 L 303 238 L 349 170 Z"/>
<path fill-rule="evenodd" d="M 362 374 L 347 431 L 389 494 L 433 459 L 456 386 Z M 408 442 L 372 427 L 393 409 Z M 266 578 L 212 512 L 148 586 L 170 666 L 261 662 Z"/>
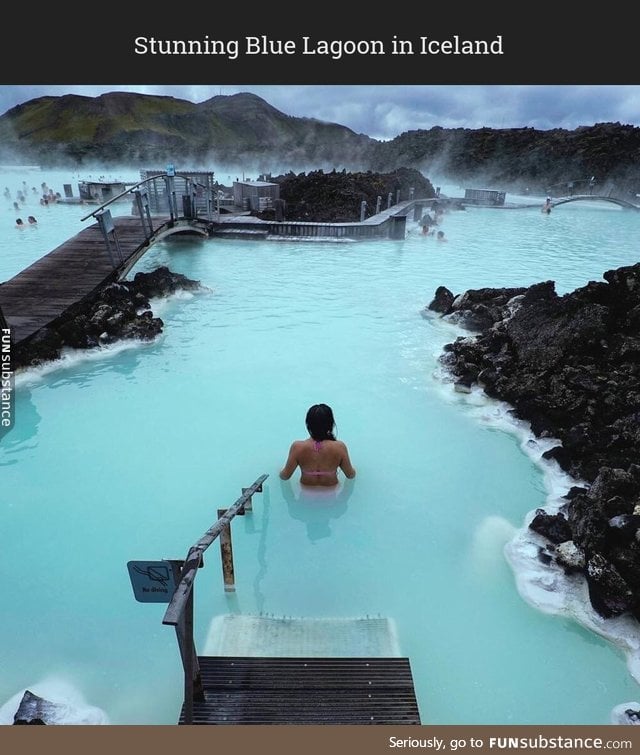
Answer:
<path fill-rule="evenodd" d="M 167 220 L 154 217 L 154 227 Z M 15 345 L 52 323 L 100 286 L 117 280 L 126 262 L 147 245 L 140 218 L 115 217 L 113 221 L 124 263 L 112 244 L 114 268 L 96 222 L 0 284 L 0 308 Z"/>

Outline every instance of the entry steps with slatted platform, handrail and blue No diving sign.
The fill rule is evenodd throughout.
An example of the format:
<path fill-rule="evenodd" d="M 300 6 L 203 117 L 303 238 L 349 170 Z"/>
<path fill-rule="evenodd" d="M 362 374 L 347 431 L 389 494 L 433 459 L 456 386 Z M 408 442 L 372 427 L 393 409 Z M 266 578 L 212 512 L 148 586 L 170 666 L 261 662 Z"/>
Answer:
<path fill-rule="evenodd" d="M 129 562 L 142 602 L 168 602 L 184 668 L 179 724 L 420 724 L 408 658 L 387 618 L 213 619 L 204 653 L 193 641 L 193 586 L 219 539 L 224 589 L 235 591 L 231 520 L 252 511 L 259 477 L 193 545 L 184 561 Z"/>

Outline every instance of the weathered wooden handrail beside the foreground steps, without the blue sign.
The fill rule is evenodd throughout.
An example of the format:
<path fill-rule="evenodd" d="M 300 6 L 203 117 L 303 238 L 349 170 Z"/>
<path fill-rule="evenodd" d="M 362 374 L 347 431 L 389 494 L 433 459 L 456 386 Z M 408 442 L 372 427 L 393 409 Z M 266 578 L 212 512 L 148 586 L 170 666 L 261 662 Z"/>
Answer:
<path fill-rule="evenodd" d="M 184 668 L 184 721 L 193 721 L 193 701 L 203 699 L 202 679 L 198 665 L 198 655 L 193 641 L 193 590 L 198 569 L 203 564 L 203 554 L 220 538 L 222 574 L 226 592 L 235 590 L 233 549 L 231 546 L 231 520 L 237 515 L 252 511 L 252 496 L 262 492 L 262 483 L 269 475 L 263 474 L 227 509 L 218 509 L 218 519 L 204 533 L 195 545 L 191 546 L 184 562 L 172 561 L 176 588 L 167 606 L 163 624 L 175 627 L 178 647 Z"/>

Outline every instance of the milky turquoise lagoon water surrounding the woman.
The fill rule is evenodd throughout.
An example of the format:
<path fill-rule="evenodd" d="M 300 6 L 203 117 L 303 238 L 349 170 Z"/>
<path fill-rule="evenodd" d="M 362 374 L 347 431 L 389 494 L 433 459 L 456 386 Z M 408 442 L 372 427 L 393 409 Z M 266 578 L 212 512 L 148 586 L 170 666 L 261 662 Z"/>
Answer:
<path fill-rule="evenodd" d="M 19 231 L 6 209 L 2 279 L 86 214 L 25 211 L 39 227 Z M 232 525 L 234 594 L 217 547 L 205 556 L 199 649 L 225 614 L 383 616 L 423 723 L 608 723 L 638 699 L 616 643 L 521 594 L 505 545 L 570 481 L 504 406 L 452 390 L 437 357 L 458 331 L 421 310 L 438 285 L 552 279 L 564 293 L 600 280 L 637 261 L 640 214 L 470 209 L 442 228 L 448 243 L 413 222 L 404 241 L 169 240 L 136 270 L 168 265 L 208 291 L 157 302 L 158 341 L 18 376 L 0 448 L 0 706 L 29 688 L 73 693 L 113 724 L 175 723 L 175 635 L 164 605 L 135 601 L 126 564 L 184 557 L 265 473 L 253 514 Z M 358 470 L 335 496 L 278 479 L 317 402 Z"/>

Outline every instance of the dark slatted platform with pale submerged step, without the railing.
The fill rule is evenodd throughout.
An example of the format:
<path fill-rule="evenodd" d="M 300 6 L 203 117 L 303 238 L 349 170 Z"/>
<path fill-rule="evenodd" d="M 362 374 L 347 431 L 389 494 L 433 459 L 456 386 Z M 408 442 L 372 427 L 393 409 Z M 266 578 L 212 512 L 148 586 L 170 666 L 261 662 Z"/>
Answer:
<path fill-rule="evenodd" d="M 420 724 L 387 618 L 218 616 L 198 663 L 194 724 Z"/>

